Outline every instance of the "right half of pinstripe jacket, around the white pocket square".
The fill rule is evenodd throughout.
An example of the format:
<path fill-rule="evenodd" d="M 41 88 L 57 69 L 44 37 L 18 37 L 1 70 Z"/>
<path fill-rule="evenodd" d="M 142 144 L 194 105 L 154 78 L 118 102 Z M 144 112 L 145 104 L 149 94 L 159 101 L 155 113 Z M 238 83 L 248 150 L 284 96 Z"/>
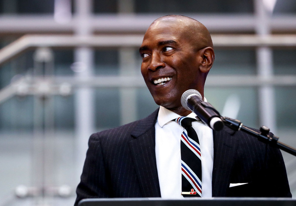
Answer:
<path fill-rule="evenodd" d="M 230 183 L 248 184 L 229 188 Z M 291 197 L 280 150 L 241 131 L 225 128 L 214 132 L 212 194 L 216 197 Z"/>

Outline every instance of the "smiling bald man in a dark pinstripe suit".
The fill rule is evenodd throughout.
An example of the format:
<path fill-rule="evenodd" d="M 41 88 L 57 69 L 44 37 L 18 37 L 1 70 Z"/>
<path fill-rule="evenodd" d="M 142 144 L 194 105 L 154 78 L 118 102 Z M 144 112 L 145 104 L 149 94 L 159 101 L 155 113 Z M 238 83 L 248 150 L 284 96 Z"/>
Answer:
<path fill-rule="evenodd" d="M 145 119 L 92 134 L 76 203 L 94 197 L 182 198 L 180 138 L 174 120 L 195 117 L 181 95 L 204 83 L 215 59 L 211 36 L 189 17 L 155 20 L 140 47 L 141 72 L 160 108 Z M 291 197 L 280 151 L 228 128 L 192 122 L 201 150 L 202 197 Z"/>

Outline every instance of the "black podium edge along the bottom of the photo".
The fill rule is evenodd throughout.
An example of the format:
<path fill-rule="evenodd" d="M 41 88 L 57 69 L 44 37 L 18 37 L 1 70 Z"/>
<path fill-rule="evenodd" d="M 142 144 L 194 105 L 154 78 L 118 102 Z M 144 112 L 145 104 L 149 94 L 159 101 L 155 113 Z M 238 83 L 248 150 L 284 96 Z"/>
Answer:
<path fill-rule="evenodd" d="M 296 206 L 292 198 L 91 198 L 78 206 Z"/>

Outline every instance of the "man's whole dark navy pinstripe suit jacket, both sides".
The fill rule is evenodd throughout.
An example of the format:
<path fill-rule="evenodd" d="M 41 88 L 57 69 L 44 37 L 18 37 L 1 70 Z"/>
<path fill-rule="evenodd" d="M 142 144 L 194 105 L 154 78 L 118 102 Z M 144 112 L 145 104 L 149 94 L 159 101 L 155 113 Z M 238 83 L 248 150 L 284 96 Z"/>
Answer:
<path fill-rule="evenodd" d="M 160 197 L 157 114 L 92 134 L 75 204 L 93 197 Z M 291 196 L 279 149 L 228 128 L 214 131 L 213 137 L 212 196 Z M 230 183 L 248 184 L 229 188 Z"/>

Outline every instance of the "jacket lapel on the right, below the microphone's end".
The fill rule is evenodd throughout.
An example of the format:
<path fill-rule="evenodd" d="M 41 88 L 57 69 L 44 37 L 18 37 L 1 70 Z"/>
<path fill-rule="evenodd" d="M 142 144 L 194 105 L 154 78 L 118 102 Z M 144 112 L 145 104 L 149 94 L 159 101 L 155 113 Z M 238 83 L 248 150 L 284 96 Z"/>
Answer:
<path fill-rule="evenodd" d="M 237 140 L 232 135 L 235 132 L 228 127 L 214 131 L 214 163 L 212 173 L 212 196 L 226 196 L 232 170 Z"/>

